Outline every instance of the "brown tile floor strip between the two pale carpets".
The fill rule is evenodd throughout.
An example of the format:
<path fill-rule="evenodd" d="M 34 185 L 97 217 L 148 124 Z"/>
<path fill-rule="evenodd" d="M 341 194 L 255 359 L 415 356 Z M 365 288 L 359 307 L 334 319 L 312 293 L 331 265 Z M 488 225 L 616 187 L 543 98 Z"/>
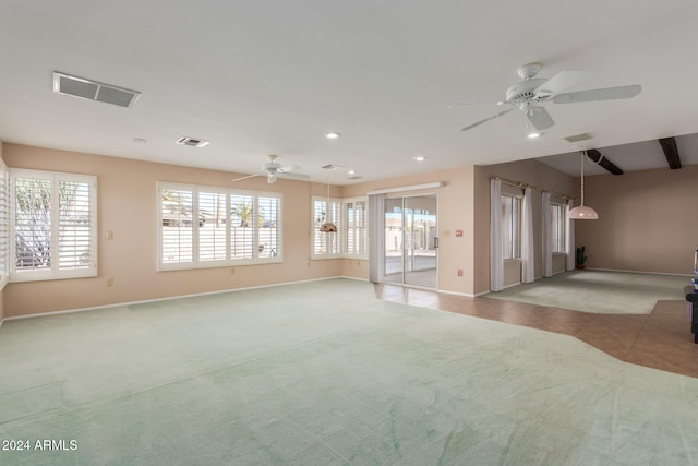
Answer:
<path fill-rule="evenodd" d="M 385 284 L 375 291 L 386 301 L 571 335 L 623 361 L 698 378 L 686 301 L 658 301 L 643 315 L 609 315 Z"/>

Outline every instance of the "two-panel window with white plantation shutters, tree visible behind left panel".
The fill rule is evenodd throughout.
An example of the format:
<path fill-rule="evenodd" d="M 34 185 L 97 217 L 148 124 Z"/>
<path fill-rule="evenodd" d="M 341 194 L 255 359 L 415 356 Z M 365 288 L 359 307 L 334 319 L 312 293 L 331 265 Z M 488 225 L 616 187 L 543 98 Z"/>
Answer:
<path fill-rule="evenodd" d="M 97 275 L 96 177 L 12 169 L 10 279 Z"/>

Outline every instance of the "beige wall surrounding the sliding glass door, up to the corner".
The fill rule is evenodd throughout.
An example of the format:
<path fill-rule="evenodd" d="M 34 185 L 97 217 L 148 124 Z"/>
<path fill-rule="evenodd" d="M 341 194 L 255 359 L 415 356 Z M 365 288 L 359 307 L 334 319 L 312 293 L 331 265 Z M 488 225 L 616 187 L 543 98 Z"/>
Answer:
<path fill-rule="evenodd" d="M 436 193 L 438 195 L 438 289 L 441 291 L 472 295 L 473 292 L 473 217 L 474 198 L 472 178 L 474 167 L 460 167 L 453 170 L 432 171 L 409 177 L 393 178 L 376 182 L 346 186 L 342 196 L 365 195 L 369 191 L 418 186 L 441 181 L 442 188 L 425 191 L 407 191 L 387 194 L 388 196 Z M 464 236 L 456 237 L 456 230 L 462 229 Z M 458 276 L 458 270 L 464 271 Z M 342 275 L 362 279 L 369 278 L 369 266 L 363 261 L 345 260 Z"/>

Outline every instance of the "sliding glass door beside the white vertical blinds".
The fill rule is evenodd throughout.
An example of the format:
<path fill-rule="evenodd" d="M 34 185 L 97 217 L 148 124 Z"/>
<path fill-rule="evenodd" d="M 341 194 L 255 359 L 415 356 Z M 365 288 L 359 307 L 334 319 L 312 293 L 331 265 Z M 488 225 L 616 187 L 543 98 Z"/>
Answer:
<path fill-rule="evenodd" d="M 385 200 L 384 282 L 436 288 L 436 195 Z"/>

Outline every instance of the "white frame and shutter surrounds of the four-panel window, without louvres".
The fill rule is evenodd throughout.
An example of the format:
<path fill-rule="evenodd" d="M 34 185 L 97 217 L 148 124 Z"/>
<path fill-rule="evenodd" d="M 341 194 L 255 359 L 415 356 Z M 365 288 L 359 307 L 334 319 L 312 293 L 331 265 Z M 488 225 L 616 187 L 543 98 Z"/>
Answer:
<path fill-rule="evenodd" d="M 266 191 L 250 191 L 250 190 L 238 190 L 230 188 L 221 188 L 221 187 L 208 187 L 201 184 L 188 184 L 188 183 L 179 183 L 179 182 L 169 182 L 169 181 L 158 181 L 156 183 L 156 200 L 157 200 L 157 271 L 158 272 L 167 272 L 167 271 L 181 271 L 181 270 L 197 270 L 197 268 L 216 268 L 216 267 L 228 267 L 228 266 L 243 266 L 243 265 L 260 265 L 260 264 L 270 264 L 270 263 L 280 263 L 284 262 L 284 230 L 282 230 L 282 220 L 284 220 L 284 194 L 279 192 L 266 192 Z M 164 191 L 182 191 L 190 192 L 192 199 L 191 205 L 191 259 L 190 260 L 180 260 L 180 261 L 165 261 L 165 237 L 164 237 L 164 227 L 166 227 L 165 220 L 169 220 L 164 217 L 164 204 L 163 204 L 163 192 Z M 207 218 L 206 218 L 206 210 L 202 208 L 202 194 L 218 194 L 225 195 L 225 218 L 220 222 L 225 225 L 225 258 L 224 259 L 202 259 L 202 235 L 201 228 L 206 227 Z M 250 198 L 252 202 L 251 206 L 251 222 L 246 222 L 246 225 L 234 226 L 232 225 L 233 220 L 240 223 L 240 217 L 232 213 L 232 198 Z M 263 217 L 260 215 L 260 201 L 261 200 L 275 200 L 275 206 L 273 208 L 275 217 L 273 220 L 267 223 L 264 222 Z M 202 215 L 204 215 L 202 217 Z M 198 222 L 193 222 L 194 218 L 197 218 Z M 273 224 L 272 224 L 273 222 Z M 252 224 L 252 225 L 250 225 Z M 252 242 L 250 254 L 246 252 L 242 252 L 242 258 L 236 258 L 233 254 L 233 234 L 237 231 L 237 228 L 245 228 L 245 234 L 252 232 Z M 246 230 L 250 228 L 250 230 Z M 270 248 L 260 249 L 260 241 L 262 237 L 262 232 L 270 232 L 272 230 L 263 231 L 263 228 L 274 228 L 275 235 L 275 244 L 272 244 Z M 249 238 L 248 235 L 245 235 Z M 244 239 L 243 241 L 248 241 Z M 181 243 L 183 248 L 188 248 L 189 244 L 186 242 Z M 265 243 L 266 246 L 267 243 Z M 244 242 L 243 242 L 244 247 Z M 182 246 L 180 246 L 180 249 Z M 267 252 L 268 250 L 268 252 Z M 214 252 L 214 254 L 218 254 L 218 252 Z"/>

